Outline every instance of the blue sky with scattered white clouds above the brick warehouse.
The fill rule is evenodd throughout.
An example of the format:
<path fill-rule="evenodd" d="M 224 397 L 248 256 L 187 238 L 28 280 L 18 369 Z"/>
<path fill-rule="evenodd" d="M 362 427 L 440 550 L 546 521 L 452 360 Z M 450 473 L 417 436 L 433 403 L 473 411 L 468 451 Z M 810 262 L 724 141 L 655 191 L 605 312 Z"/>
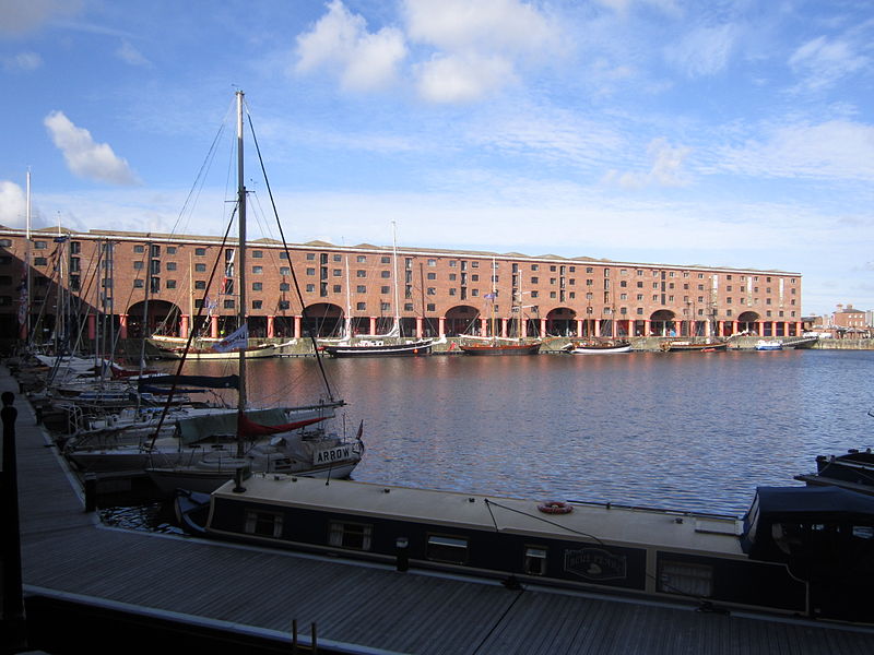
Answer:
<path fill-rule="evenodd" d="M 874 309 L 873 62 L 871 0 L 0 0 L 0 225 L 29 171 L 35 228 L 224 234 L 239 90 L 250 238 L 780 270 L 805 314 Z"/>

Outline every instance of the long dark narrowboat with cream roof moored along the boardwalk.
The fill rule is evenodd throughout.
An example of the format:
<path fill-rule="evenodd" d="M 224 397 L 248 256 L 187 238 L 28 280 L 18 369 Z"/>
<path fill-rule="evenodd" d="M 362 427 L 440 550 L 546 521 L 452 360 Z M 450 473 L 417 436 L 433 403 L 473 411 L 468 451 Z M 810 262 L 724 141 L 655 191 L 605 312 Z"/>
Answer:
<path fill-rule="evenodd" d="M 874 497 L 760 487 L 743 517 L 255 474 L 178 491 L 182 527 L 234 541 L 602 591 L 705 609 L 859 623 Z"/>

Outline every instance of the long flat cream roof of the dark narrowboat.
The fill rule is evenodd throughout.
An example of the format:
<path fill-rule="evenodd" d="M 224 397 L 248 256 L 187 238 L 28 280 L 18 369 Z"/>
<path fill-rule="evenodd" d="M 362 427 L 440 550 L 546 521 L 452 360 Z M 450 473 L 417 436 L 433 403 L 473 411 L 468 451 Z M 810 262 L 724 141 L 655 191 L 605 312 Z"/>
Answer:
<path fill-rule="evenodd" d="M 352 480 L 256 474 L 243 492 L 227 483 L 213 492 L 214 503 L 236 501 L 291 505 L 315 511 L 429 523 L 451 529 L 499 529 L 540 538 L 575 539 L 582 544 L 676 548 L 720 557 L 745 558 L 739 536 L 742 522 L 733 516 L 601 503 L 568 503 L 566 514 L 543 513 L 535 500 L 394 487 Z M 213 505 L 215 511 L 215 504 Z"/>

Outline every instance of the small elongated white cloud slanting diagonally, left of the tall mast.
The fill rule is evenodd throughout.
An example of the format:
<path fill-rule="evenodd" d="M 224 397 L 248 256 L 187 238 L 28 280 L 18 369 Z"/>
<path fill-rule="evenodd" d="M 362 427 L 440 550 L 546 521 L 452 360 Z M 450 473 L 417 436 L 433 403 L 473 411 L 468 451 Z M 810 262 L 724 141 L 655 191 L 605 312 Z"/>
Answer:
<path fill-rule="evenodd" d="M 43 122 L 73 175 L 113 184 L 137 183 L 125 159 L 108 144 L 95 143 L 91 132 L 75 127 L 63 112 L 52 111 Z"/>

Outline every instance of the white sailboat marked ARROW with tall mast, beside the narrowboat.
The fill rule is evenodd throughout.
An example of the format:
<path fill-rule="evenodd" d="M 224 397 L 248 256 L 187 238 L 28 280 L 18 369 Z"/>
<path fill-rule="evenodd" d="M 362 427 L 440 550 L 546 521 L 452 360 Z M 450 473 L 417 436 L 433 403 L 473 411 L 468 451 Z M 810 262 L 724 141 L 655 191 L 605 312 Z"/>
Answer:
<path fill-rule="evenodd" d="M 322 372 L 328 402 L 303 407 L 271 408 L 261 412 L 247 407 L 246 361 L 246 187 L 243 157 L 243 92 L 237 99 L 237 221 L 239 224 L 239 327 L 227 338 L 226 347 L 236 346 L 238 357 L 237 410 L 234 414 L 199 416 L 176 421 L 176 441 L 169 449 L 150 450 L 151 464 L 145 468 L 158 490 L 172 493 L 176 488 L 212 491 L 232 478 L 241 480 L 251 473 L 290 473 L 315 477 L 347 477 L 364 454 L 358 426 L 354 440 L 329 432 L 326 421 L 345 405 L 333 398 Z M 179 365 L 177 376 L 181 371 Z M 172 394 L 170 394 L 172 396 Z M 157 431 L 156 431 L 157 436 Z M 175 448 L 174 448 L 175 445 Z"/>

